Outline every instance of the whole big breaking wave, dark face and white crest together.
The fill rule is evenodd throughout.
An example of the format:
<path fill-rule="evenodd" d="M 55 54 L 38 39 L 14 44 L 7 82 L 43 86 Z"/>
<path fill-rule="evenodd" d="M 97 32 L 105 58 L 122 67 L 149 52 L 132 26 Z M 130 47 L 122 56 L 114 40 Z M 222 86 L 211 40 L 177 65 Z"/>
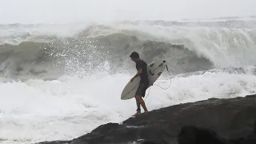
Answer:
<path fill-rule="evenodd" d="M 0 71 L 6 77 L 131 72 L 129 55 L 134 50 L 148 63 L 165 58 L 173 74 L 251 66 L 256 61 L 256 31 L 250 26 L 256 22 L 250 22 L 210 22 L 214 28 L 209 22 L 122 22 L 90 25 L 66 36 L 25 30 L 22 36 L 1 36 Z M 246 29 L 241 28 L 245 23 Z M 15 38 L 22 42 L 11 43 Z"/>

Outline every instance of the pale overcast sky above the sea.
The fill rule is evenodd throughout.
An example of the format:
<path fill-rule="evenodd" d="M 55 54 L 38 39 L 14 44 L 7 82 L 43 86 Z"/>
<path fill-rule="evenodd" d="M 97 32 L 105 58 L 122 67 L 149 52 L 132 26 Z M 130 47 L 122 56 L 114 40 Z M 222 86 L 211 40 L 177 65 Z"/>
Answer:
<path fill-rule="evenodd" d="M 256 0 L 0 0 L 0 23 L 256 15 Z"/>

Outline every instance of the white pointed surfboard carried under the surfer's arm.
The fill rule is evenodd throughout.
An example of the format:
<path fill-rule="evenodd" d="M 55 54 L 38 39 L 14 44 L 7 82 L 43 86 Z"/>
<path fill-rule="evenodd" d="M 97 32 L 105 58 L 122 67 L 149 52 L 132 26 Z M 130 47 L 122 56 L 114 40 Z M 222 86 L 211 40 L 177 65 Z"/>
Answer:
<path fill-rule="evenodd" d="M 161 59 L 155 62 L 150 63 L 148 66 L 146 66 L 148 78 L 150 81 L 150 86 L 153 85 L 153 83 L 160 77 L 162 74 L 162 71 L 166 68 L 166 61 Z M 134 98 L 136 90 L 139 85 L 139 81 L 141 80 L 140 76 L 137 78 L 134 78 L 133 82 L 128 82 L 124 89 L 122 90 L 121 99 L 126 100 L 130 98 Z"/>

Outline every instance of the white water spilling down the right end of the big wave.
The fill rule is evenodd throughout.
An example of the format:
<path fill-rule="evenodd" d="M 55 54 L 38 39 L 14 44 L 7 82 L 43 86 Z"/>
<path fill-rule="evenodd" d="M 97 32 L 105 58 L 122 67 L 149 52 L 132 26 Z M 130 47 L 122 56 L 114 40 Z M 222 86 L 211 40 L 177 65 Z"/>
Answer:
<path fill-rule="evenodd" d="M 184 45 L 198 57 L 210 59 L 219 68 L 254 66 L 256 61 L 254 29 L 223 26 L 150 26 L 146 22 L 138 26 L 122 25 L 115 28 L 139 31 L 138 38 Z"/>

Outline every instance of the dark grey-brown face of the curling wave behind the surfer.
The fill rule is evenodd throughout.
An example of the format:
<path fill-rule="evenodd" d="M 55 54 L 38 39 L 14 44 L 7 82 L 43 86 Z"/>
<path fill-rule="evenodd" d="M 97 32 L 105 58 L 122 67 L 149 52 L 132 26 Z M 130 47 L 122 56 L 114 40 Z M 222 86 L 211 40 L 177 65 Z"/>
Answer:
<path fill-rule="evenodd" d="M 106 37 L 106 39 L 109 37 Z M 96 73 L 97 70 L 109 70 L 112 73 L 129 72 L 130 68 L 134 66 L 129 58 L 132 50 L 140 51 L 146 62 L 165 58 L 167 62 L 170 62 L 170 69 L 174 73 L 199 70 L 200 67 L 211 66 L 208 60 L 198 58 L 193 52 L 186 50 L 184 46 L 150 40 L 144 42 L 138 40 L 132 43 L 133 38 L 126 36 L 123 37 L 124 39 L 130 42 L 123 46 L 118 45 L 117 41 L 114 41 L 116 43 L 114 46 L 114 42 L 105 41 L 102 44 L 102 42 L 95 39 L 86 39 L 83 42 L 54 40 L 46 43 L 22 42 L 18 46 L 4 45 L 0 53 L 2 62 L 0 70 L 7 74 L 5 76 L 22 73 L 45 74 L 49 69 L 62 70 L 63 73 L 81 71 L 86 74 Z M 121 38 L 119 40 L 122 41 Z M 122 42 L 120 44 L 122 45 Z M 140 49 L 137 47 L 138 44 Z M 158 49 L 154 47 L 158 47 Z M 172 56 L 169 57 L 168 54 L 172 54 Z M 190 64 L 188 64 L 189 62 Z M 106 65 L 110 67 L 107 68 Z M 195 65 L 198 67 L 195 67 Z M 23 70 L 26 70 L 26 72 Z"/>

